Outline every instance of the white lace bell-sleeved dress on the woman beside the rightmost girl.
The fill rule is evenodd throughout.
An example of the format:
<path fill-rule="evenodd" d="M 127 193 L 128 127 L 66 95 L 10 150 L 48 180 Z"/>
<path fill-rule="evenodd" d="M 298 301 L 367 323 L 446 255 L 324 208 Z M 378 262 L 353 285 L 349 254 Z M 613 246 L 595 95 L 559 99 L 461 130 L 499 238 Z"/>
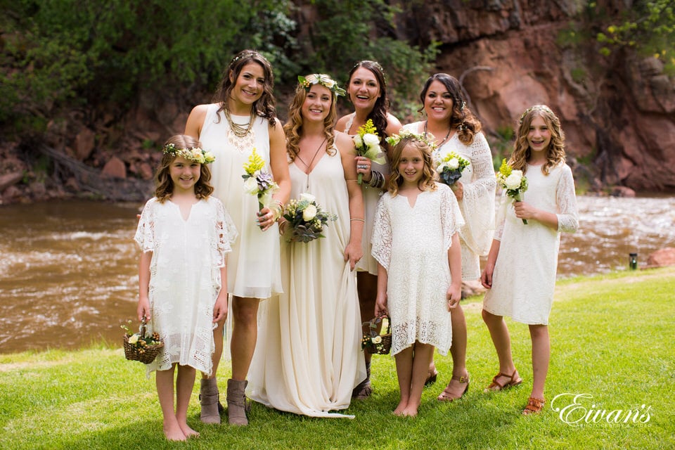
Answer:
<path fill-rule="evenodd" d="M 404 128 L 418 132 L 423 122 L 407 124 Z M 470 165 L 462 171 L 458 180 L 463 186 L 459 203 L 465 224 L 459 230 L 462 248 L 462 279 L 475 281 L 480 278 L 480 257 L 487 255 L 494 233 L 494 192 L 496 179 L 492 165 L 492 153 L 487 139 L 478 132 L 470 145 L 459 140 L 455 133 L 446 143 L 437 148 L 438 155 L 454 152 Z"/>

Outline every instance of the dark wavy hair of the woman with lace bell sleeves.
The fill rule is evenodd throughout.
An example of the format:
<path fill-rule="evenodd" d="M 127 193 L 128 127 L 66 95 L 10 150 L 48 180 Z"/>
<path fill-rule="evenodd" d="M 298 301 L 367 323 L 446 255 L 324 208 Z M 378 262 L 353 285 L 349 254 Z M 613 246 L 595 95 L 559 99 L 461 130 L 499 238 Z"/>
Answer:
<path fill-rule="evenodd" d="M 473 136 L 481 130 L 482 125 L 480 120 L 471 112 L 466 103 L 466 96 L 458 79 L 446 73 L 437 73 L 427 79 L 420 92 L 420 100 L 422 101 L 422 108 L 418 112 L 424 111 L 424 101 L 427 97 L 429 86 L 438 80 L 448 90 L 452 97 L 452 114 L 450 115 L 450 128 L 457 129 L 457 138 L 466 146 L 473 143 Z"/>

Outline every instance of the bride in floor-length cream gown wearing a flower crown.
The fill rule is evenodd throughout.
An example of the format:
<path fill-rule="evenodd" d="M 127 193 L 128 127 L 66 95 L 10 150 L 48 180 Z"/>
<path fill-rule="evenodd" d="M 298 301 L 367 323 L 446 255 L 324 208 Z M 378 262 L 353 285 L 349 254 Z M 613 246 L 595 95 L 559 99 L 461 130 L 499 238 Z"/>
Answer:
<path fill-rule="evenodd" d="M 328 75 L 306 79 L 295 91 L 284 127 L 291 196 L 311 193 L 338 220 L 324 227 L 325 238 L 309 243 L 282 237 L 284 293 L 261 307 L 249 393 L 280 411 L 353 418 L 330 411 L 349 406 L 354 386 L 366 374 L 354 273 L 363 255 L 364 205 L 352 139 L 333 131 L 336 94 L 342 90 Z"/>

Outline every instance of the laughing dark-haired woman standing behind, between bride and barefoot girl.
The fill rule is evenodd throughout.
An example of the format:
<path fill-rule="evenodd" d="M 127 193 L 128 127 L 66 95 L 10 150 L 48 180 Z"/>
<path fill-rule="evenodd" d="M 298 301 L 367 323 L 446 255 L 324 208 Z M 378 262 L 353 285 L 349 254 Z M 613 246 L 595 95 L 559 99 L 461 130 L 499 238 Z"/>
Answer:
<path fill-rule="evenodd" d="M 377 61 L 363 60 L 354 65 L 349 71 L 347 96 L 354 105 L 354 113 L 340 117 L 335 129 L 345 131 L 354 136 L 359 127 L 373 120 L 375 129 L 380 136 L 380 146 L 385 153 L 388 149 L 385 138 L 397 134 L 401 129 L 401 122 L 389 113 L 389 97 L 387 96 L 387 82 L 385 71 Z M 366 210 L 366 224 L 362 243 L 364 257 L 356 266 L 357 288 L 359 289 L 359 306 L 361 307 L 361 321 L 368 321 L 375 310 L 375 296 L 378 290 L 378 262 L 371 255 L 371 234 L 373 233 L 373 218 L 378 207 L 380 196 L 387 191 L 385 180 L 389 176 L 389 163 L 378 164 L 368 158 L 354 158 L 356 172 L 364 175 L 361 190 L 364 193 L 364 208 Z M 366 330 L 367 331 L 367 330 Z M 366 359 L 366 379 L 354 388 L 354 398 L 366 399 L 373 392 L 371 387 L 371 357 L 364 351 Z"/>

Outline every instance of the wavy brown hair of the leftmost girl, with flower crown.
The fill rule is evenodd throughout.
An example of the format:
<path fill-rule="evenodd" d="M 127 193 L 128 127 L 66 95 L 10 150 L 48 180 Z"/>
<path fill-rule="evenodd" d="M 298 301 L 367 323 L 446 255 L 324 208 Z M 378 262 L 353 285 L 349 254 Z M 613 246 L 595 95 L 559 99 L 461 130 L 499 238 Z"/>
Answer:
<path fill-rule="evenodd" d="M 171 136 L 165 143 L 164 147 L 170 143 L 174 144 L 176 148 L 197 148 L 201 147 L 199 141 L 192 136 L 187 136 L 186 134 L 176 134 L 176 136 Z M 162 147 L 162 149 L 164 148 Z M 159 200 L 160 203 L 164 203 L 165 200 L 171 198 L 171 195 L 174 193 L 174 181 L 171 179 L 169 171 L 171 169 L 171 163 L 176 159 L 175 153 L 165 153 L 162 155 L 162 160 L 160 161 L 160 166 L 155 172 L 155 197 Z M 207 198 L 213 192 L 213 186 L 209 184 L 211 181 L 211 170 L 205 164 L 200 165 L 200 176 L 197 182 L 195 183 L 195 197 Z"/>

